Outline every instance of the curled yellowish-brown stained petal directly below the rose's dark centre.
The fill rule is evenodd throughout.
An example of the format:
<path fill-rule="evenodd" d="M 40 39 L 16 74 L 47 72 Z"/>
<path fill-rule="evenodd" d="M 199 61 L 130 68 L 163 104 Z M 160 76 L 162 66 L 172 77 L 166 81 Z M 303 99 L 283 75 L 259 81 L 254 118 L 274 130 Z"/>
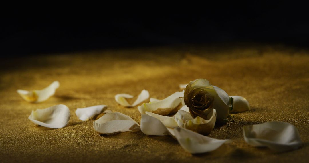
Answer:
<path fill-rule="evenodd" d="M 179 110 L 175 119 L 179 127 L 198 132 L 203 135 L 208 135 L 213 129 L 216 123 L 216 109 L 211 109 L 206 119 L 197 116 L 193 119 L 192 115 L 184 110 Z"/>

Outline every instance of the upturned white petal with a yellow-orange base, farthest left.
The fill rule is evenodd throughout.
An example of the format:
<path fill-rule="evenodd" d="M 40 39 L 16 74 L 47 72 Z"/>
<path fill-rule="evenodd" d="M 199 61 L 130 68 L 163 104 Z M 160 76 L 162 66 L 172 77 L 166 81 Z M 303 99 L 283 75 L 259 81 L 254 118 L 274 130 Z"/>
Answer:
<path fill-rule="evenodd" d="M 55 94 L 56 89 L 59 87 L 59 82 L 54 81 L 48 87 L 42 90 L 17 90 L 17 93 L 28 102 L 42 102 L 47 100 L 50 96 Z"/>

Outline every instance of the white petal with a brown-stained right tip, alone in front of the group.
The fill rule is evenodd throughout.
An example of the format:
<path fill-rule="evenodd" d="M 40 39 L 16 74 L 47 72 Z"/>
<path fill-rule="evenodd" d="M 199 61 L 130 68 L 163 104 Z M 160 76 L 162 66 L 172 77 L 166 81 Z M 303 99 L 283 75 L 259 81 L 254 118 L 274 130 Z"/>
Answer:
<path fill-rule="evenodd" d="M 128 115 L 119 112 L 106 113 L 93 122 L 93 128 L 100 134 L 116 134 L 139 130 L 140 126 Z"/>

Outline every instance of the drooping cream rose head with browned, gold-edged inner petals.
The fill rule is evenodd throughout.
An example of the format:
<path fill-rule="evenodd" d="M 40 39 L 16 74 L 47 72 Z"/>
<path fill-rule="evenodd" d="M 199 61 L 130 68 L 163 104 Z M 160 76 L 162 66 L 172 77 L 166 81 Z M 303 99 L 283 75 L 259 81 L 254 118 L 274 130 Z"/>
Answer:
<path fill-rule="evenodd" d="M 211 110 L 216 109 L 219 121 L 226 119 L 233 109 L 233 98 L 206 79 L 190 81 L 184 90 L 184 103 L 193 117 L 206 119 Z"/>

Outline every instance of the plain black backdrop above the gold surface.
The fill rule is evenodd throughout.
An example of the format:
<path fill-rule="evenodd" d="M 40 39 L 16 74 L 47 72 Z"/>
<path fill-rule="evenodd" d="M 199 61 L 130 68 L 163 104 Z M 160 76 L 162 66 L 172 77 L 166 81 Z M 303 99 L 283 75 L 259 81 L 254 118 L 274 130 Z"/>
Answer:
<path fill-rule="evenodd" d="M 250 1 L 196 4 L 168 12 L 157 7 L 107 10 L 108 6 L 11 9 L 1 16 L 0 48 L 5 57 L 179 44 L 258 43 L 307 48 L 306 6 Z"/>

